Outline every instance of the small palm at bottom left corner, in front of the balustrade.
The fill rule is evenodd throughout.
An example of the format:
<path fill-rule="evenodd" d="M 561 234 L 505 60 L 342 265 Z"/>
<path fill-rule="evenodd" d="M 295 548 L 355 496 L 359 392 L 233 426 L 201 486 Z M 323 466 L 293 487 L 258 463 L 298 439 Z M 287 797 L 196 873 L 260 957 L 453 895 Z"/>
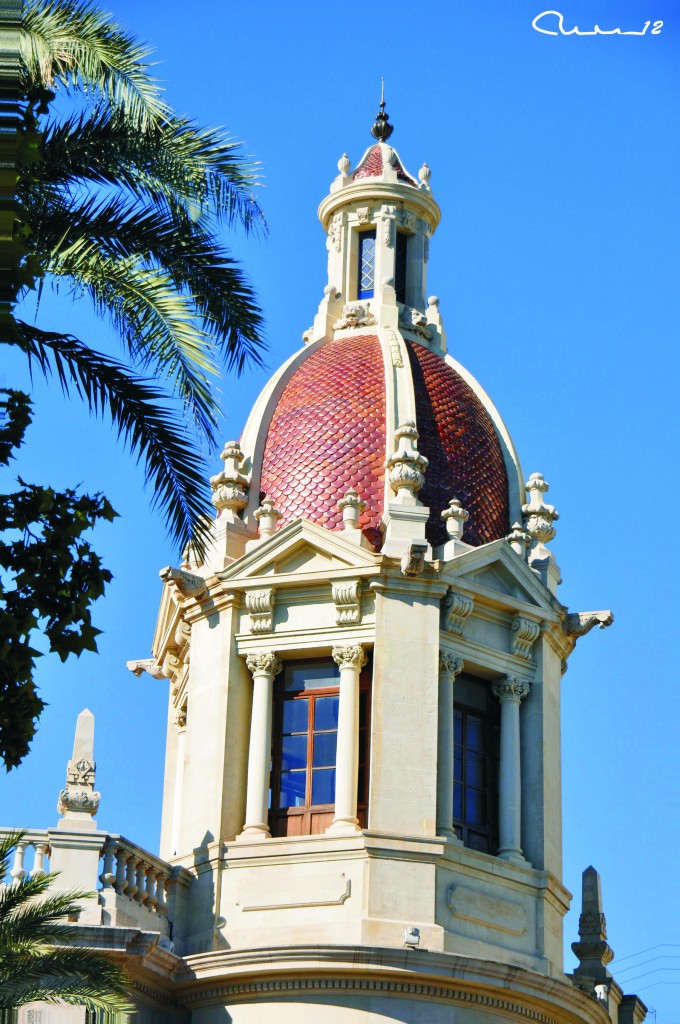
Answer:
<path fill-rule="evenodd" d="M 0 880 L 23 833 L 0 841 Z M 88 1010 L 129 1013 L 134 1008 L 123 971 L 102 952 L 71 945 L 78 928 L 63 919 L 91 895 L 48 889 L 57 876 L 32 874 L 0 884 L 0 1015 L 27 1002 L 68 1002 Z"/>

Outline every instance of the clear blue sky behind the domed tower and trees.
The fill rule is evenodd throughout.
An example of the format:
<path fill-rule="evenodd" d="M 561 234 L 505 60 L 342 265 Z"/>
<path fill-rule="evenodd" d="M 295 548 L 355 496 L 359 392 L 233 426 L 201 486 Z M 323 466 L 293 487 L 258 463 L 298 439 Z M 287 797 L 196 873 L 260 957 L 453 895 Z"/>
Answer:
<path fill-rule="evenodd" d="M 564 677 L 563 763 L 564 881 L 577 897 L 566 946 L 577 937 L 581 871 L 593 863 L 619 959 L 680 942 L 672 601 L 680 7 L 560 2 L 565 28 L 639 31 L 648 19 L 664 28 L 550 37 L 532 29 L 547 6 L 118 0 L 114 10 L 155 46 L 170 101 L 226 125 L 262 163 L 270 238 L 235 238 L 233 249 L 267 316 L 270 370 L 300 344 L 322 297 L 316 206 L 342 153 L 355 162 L 369 144 L 385 76 L 391 141 L 412 172 L 427 161 L 442 208 L 428 291 L 441 299 L 451 350 L 500 408 L 525 473 L 550 481 L 561 513 L 553 550 L 562 601 L 617 616 L 579 642 Z M 43 300 L 40 322 L 115 346 L 65 294 Z M 3 374 L 23 380 L 9 361 Z M 265 379 L 224 380 L 224 439 L 238 436 Z M 133 679 L 125 662 L 150 652 L 158 570 L 176 563 L 176 552 L 109 425 L 55 389 L 37 383 L 35 394 L 18 471 L 102 489 L 122 518 L 96 537 L 116 577 L 95 611 L 100 655 L 40 666 L 49 708 L 33 752 L 0 781 L 1 817 L 55 823 L 75 719 L 87 705 L 96 716 L 99 825 L 156 849 L 167 686 Z M 218 468 L 213 460 L 209 471 Z M 680 1024 L 680 956 L 672 954 L 680 946 L 620 965 L 620 980 L 655 1009 L 658 1024 Z M 666 958 L 636 968 L 657 955 Z"/>

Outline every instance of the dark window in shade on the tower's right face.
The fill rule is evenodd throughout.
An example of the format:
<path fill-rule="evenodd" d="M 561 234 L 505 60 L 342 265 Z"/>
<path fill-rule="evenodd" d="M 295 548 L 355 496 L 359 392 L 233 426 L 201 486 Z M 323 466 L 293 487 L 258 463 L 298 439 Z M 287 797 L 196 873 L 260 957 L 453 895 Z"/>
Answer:
<path fill-rule="evenodd" d="M 459 676 L 454 693 L 454 826 L 466 846 L 498 851 L 500 705 L 491 683 Z"/>

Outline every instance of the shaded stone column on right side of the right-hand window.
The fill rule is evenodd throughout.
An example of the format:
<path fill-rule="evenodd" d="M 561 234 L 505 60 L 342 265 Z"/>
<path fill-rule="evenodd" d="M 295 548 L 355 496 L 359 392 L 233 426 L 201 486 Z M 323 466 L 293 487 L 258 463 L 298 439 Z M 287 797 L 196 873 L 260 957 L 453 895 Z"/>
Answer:
<path fill-rule="evenodd" d="M 501 764 L 499 771 L 499 857 L 524 863 L 521 851 L 521 763 L 519 705 L 530 687 L 516 676 L 504 676 L 492 685 L 501 701 Z"/>

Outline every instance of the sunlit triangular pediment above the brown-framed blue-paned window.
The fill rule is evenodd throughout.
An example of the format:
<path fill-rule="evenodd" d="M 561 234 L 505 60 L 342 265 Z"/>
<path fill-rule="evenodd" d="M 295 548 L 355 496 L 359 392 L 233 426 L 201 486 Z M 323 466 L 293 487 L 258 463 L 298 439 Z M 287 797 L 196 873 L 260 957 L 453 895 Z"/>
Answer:
<path fill-rule="evenodd" d="M 346 541 L 341 532 L 298 519 L 217 574 L 223 582 L 330 575 L 342 569 L 375 568 L 378 561 L 378 555 Z"/>

